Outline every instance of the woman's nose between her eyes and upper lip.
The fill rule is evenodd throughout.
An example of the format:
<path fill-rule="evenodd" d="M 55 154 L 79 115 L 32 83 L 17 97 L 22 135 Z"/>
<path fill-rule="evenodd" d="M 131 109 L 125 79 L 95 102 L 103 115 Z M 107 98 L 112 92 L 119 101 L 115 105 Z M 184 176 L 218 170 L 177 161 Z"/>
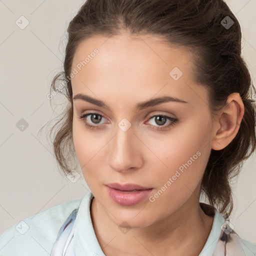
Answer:
<path fill-rule="evenodd" d="M 123 131 L 117 127 L 110 141 L 108 164 L 118 172 L 130 172 L 143 164 L 141 141 L 133 133 L 132 126 Z"/>

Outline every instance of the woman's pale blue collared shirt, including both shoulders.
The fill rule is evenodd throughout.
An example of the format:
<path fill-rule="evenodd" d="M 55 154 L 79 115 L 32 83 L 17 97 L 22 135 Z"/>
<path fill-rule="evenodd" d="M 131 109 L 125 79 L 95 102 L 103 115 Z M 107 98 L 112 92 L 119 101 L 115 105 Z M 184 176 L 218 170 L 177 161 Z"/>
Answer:
<path fill-rule="evenodd" d="M 104 256 L 91 222 L 92 198 L 88 192 L 9 227 L 0 236 L 0 256 Z M 256 245 L 240 238 L 214 207 L 200 206 L 205 214 L 213 208 L 214 219 L 199 256 L 256 255 Z"/>

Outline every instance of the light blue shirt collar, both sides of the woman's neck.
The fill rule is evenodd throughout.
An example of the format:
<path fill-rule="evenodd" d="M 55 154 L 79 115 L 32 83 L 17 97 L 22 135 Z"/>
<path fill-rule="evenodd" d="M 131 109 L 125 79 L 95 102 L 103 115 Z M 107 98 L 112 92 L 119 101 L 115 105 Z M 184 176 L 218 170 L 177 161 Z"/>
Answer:
<path fill-rule="evenodd" d="M 96 238 L 90 216 L 93 195 L 85 194 L 61 226 L 50 256 L 105 256 Z M 86 242 L 84 242 L 86 241 Z M 229 221 L 214 208 L 211 231 L 199 256 L 245 256 L 240 237 Z"/>

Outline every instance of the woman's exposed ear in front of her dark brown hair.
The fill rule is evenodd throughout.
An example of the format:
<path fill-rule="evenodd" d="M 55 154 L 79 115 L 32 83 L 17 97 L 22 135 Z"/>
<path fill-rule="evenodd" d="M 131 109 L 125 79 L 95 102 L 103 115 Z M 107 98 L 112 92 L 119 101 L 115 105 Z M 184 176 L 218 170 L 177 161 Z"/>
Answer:
<path fill-rule="evenodd" d="M 215 136 L 211 148 L 220 150 L 227 146 L 237 134 L 244 114 L 244 105 L 239 93 L 231 93 L 226 105 L 220 110 L 219 118 L 215 121 Z"/>

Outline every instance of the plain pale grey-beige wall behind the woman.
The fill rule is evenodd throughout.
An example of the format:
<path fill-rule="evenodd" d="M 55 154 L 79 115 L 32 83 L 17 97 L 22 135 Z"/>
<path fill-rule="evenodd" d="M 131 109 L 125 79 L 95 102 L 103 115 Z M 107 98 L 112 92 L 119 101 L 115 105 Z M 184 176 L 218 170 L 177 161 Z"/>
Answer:
<path fill-rule="evenodd" d="M 46 95 L 53 76 L 62 70 L 68 22 L 83 2 L 0 0 L 0 234 L 25 217 L 88 191 L 83 176 L 72 183 L 59 174 L 45 129 L 37 135 L 64 106 L 63 98 L 54 96 L 50 102 Z M 255 84 L 256 0 L 226 2 L 241 25 L 242 54 Z M 29 22 L 24 29 L 15 23 L 22 15 Z M 24 123 L 20 119 L 28 124 L 23 131 L 16 126 Z M 254 154 L 233 180 L 230 222 L 242 238 L 256 244 L 255 181 Z"/>

